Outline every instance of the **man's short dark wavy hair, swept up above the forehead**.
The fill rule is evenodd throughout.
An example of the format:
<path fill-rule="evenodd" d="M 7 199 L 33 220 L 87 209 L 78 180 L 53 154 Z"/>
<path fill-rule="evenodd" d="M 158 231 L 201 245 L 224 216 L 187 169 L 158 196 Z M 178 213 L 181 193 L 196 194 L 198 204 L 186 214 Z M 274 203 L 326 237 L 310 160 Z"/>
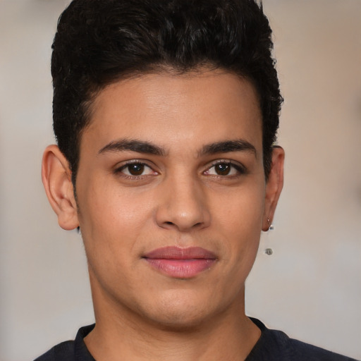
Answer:
<path fill-rule="evenodd" d="M 203 66 L 247 78 L 262 111 L 264 173 L 283 101 L 271 28 L 253 0 L 73 0 L 52 45 L 54 133 L 75 185 L 82 130 L 92 100 L 106 85 L 171 68 Z"/>

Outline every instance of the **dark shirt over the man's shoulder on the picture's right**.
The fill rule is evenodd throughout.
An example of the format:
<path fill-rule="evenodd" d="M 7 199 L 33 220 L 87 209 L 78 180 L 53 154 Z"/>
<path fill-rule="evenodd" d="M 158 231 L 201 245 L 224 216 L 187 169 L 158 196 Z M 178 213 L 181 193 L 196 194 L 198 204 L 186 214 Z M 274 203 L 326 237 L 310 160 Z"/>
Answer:
<path fill-rule="evenodd" d="M 262 335 L 248 355 L 247 361 L 356 361 L 350 357 L 289 338 L 282 331 L 267 329 L 257 319 L 252 319 L 252 321 L 261 329 Z"/>

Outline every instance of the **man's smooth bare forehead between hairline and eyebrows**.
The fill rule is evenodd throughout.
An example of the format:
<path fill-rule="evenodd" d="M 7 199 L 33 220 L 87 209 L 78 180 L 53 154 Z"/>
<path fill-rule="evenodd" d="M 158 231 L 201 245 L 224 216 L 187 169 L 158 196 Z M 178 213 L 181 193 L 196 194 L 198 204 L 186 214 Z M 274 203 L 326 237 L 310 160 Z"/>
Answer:
<path fill-rule="evenodd" d="M 99 149 L 117 138 L 165 148 L 248 138 L 262 147 L 262 115 L 255 87 L 233 73 L 150 73 L 99 92 L 82 143 Z"/>

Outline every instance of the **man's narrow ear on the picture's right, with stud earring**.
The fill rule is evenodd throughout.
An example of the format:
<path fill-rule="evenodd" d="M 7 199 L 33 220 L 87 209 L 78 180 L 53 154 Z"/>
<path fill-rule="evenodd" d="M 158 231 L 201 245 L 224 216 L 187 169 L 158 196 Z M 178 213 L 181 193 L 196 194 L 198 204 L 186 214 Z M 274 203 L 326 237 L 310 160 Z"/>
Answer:
<path fill-rule="evenodd" d="M 277 202 L 283 188 L 283 163 L 285 152 L 282 147 L 276 146 L 272 151 L 272 165 L 266 184 L 266 195 L 264 199 L 264 214 L 262 220 L 262 231 L 268 231 L 274 219 Z"/>

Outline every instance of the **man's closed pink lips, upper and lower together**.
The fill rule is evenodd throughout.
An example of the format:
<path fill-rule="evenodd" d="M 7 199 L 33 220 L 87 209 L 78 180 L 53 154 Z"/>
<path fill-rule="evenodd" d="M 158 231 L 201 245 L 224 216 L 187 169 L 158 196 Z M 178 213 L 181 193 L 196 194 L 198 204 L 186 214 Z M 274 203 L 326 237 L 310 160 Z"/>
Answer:
<path fill-rule="evenodd" d="M 216 255 L 202 247 L 163 247 L 147 253 L 143 258 L 162 274 L 176 279 L 190 279 L 212 267 Z"/>

